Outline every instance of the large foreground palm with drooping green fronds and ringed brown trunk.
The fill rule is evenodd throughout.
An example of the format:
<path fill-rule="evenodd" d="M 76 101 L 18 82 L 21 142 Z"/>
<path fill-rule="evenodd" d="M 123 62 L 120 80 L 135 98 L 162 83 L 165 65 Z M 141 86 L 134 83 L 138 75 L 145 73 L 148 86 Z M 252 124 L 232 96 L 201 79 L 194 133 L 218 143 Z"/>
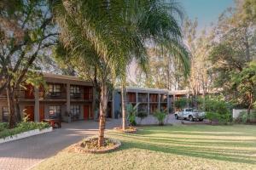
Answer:
<path fill-rule="evenodd" d="M 157 44 L 165 47 L 166 51 L 175 49 L 173 53 L 179 54 L 185 61 L 181 43 L 172 31 L 167 31 L 176 30 L 173 25 L 177 23 L 166 26 L 168 18 L 163 18 L 162 27 L 158 27 L 158 22 L 153 22 L 159 20 L 161 15 L 170 15 L 158 11 L 165 7 L 160 4 L 164 3 L 157 0 L 60 0 L 55 6 L 55 18 L 60 26 L 60 40 L 64 48 L 76 59 L 86 61 L 84 69 L 93 66 L 97 71 L 101 88 L 99 146 L 104 143 L 109 85 L 118 76 L 125 82 L 126 66 L 131 59 L 136 58 L 142 65 L 147 63 L 146 46 Z M 151 25 L 153 23 L 155 26 Z M 162 46 L 167 41 L 172 43 Z"/>

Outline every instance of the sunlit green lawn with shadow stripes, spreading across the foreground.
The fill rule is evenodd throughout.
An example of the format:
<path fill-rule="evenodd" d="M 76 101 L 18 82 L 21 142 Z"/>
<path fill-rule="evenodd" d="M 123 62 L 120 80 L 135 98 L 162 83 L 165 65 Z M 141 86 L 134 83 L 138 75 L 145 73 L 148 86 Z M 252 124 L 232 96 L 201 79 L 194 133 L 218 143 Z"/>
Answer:
<path fill-rule="evenodd" d="M 108 131 L 119 150 L 106 154 L 66 151 L 34 169 L 256 169 L 256 127 L 140 127 L 136 134 Z"/>

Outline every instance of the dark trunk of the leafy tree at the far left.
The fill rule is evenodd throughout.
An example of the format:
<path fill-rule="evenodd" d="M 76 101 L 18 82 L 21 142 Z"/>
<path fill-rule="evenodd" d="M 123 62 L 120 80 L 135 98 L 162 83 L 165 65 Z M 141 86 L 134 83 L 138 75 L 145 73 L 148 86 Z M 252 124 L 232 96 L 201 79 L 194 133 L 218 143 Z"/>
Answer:
<path fill-rule="evenodd" d="M 6 91 L 7 91 L 7 100 L 8 100 L 8 106 L 9 106 L 9 128 L 14 128 L 16 125 L 15 92 L 11 88 L 10 84 L 8 84 Z"/>

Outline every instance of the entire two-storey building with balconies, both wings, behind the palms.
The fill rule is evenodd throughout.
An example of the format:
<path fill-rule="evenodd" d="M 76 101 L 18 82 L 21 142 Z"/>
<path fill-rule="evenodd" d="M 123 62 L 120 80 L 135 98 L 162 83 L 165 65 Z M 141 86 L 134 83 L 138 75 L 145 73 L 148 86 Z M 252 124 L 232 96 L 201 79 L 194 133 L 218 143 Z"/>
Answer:
<path fill-rule="evenodd" d="M 21 116 L 25 114 L 30 121 L 41 122 L 43 119 L 60 118 L 63 122 L 90 120 L 99 115 L 96 110 L 96 92 L 91 82 L 78 77 L 44 73 L 47 89 L 26 85 L 16 93 L 19 96 Z M 168 91 L 155 88 L 126 88 L 126 101 L 138 105 L 138 111 L 153 116 L 156 110 L 173 113 L 176 111 L 175 100 L 188 98 L 188 90 Z M 108 100 L 107 117 L 121 116 L 120 89 L 113 90 Z M 9 120 L 6 94 L 0 94 L 0 122 Z"/>

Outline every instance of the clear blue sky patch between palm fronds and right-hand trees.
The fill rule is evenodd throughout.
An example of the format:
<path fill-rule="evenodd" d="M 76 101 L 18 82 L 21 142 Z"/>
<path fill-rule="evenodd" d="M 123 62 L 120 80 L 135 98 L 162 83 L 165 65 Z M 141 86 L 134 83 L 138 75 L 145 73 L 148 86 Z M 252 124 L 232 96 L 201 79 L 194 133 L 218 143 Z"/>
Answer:
<path fill-rule="evenodd" d="M 234 0 L 177 0 L 190 20 L 198 19 L 198 28 L 203 30 L 218 21 L 224 9 L 235 5 Z"/>

